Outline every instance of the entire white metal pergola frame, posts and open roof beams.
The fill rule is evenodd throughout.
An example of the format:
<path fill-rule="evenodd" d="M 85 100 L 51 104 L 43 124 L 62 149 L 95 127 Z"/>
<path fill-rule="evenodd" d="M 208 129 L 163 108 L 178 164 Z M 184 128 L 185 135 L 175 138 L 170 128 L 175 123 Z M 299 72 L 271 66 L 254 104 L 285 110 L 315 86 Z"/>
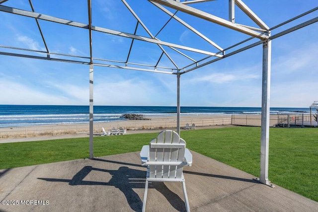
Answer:
<path fill-rule="evenodd" d="M 292 22 L 300 17 L 303 17 L 313 11 L 316 11 L 318 7 L 313 8 L 303 14 L 300 14 L 290 20 L 287 20 L 277 26 L 274 27 L 268 27 L 242 0 L 228 0 L 229 3 L 229 20 L 225 20 L 223 18 L 217 17 L 215 15 L 212 15 L 210 13 L 204 12 L 202 10 L 196 9 L 194 7 L 191 7 L 189 4 L 194 3 L 200 3 L 200 2 L 206 2 L 206 1 L 213 1 L 213 0 L 148 0 L 149 2 L 153 3 L 154 6 L 157 6 L 162 12 L 168 14 L 171 18 L 173 18 L 176 21 L 178 21 L 183 26 L 187 27 L 189 30 L 194 32 L 196 35 L 201 37 L 203 40 L 205 40 L 210 45 L 214 46 L 218 52 L 210 52 L 205 50 L 200 50 L 196 48 L 191 48 L 188 46 L 182 46 L 170 42 L 161 41 L 157 38 L 157 35 L 153 35 L 151 31 L 147 28 L 147 26 L 143 23 L 141 18 L 138 16 L 138 14 L 130 7 L 130 5 L 127 3 L 126 0 L 122 0 L 122 2 L 125 4 L 125 6 L 128 8 L 128 10 L 131 12 L 131 14 L 136 18 L 137 25 L 135 28 L 135 33 L 127 33 L 127 32 L 121 32 L 116 31 L 108 28 L 98 27 L 92 25 L 92 17 L 91 17 L 91 0 L 87 0 L 87 12 L 88 12 L 88 21 L 87 23 L 80 23 L 72 20 L 66 20 L 50 15 L 40 14 L 35 12 L 33 8 L 32 1 L 29 0 L 29 4 L 32 11 L 26 11 L 22 9 L 17 9 L 13 7 L 8 7 L 3 5 L 4 2 L 8 0 L 0 0 L 0 12 L 8 12 L 15 15 L 22 15 L 30 18 L 34 18 L 39 32 L 41 34 L 43 43 L 45 45 L 46 51 L 37 51 L 37 50 L 31 50 L 31 49 L 22 49 L 22 48 L 16 48 L 16 47 L 10 47 L 10 46 L 1 46 L 1 49 L 9 50 L 20 50 L 25 52 L 25 54 L 16 54 L 16 53 L 10 53 L 9 51 L 0 51 L 0 55 L 6 55 L 6 56 L 15 56 L 15 57 L 24 57 L 24 58 L 31 58 L 31 59 L 41 59 L 41 60 L 50 60 L 50 61 L 57 61 L 57 62 L 67 62 L 67 63 L 77 63 L 77 64 L 83 64 L 83 65 L 89 65 L 89 158 L 93 158 L 93 68 L 94 66 L 101 66 L 101 67 L 110 67 L 110 68 L 119 68 L 119 69 L 126 69 L 126 70 L 136 70 L 136 71 L 151 71 L 151 72 L 157 72 L 157 73 L 166 73 L 166 74 L 175 74 L 177 76 L 177 133 L 180 135 L 180 76 L 184 73 L 187 73 L 189 71 L 193 71 L 196 69 L 199 69 L 203 66 L 206 66 L 208 64 L 214 63 L 216 61 L 219 61 L 221 59 L 230 57 L 232 55 L 235 55 L 239 52 L 242 52 L 244 50 L 247 50 L 249 48 L 255 47 L 257 45 L 262 44 L 263 45 L 263 69 L 262 69 L 262 106 L 261 106 L 261 156 L 260 156 L 260 177 L 259 181 L 266 185 L 271 185 L 270 181 L 268 180 L 268 149 L 269 149 L 269 108 L 270 108 L 270 74 L 271 74 L 271 40 L 278 38 L 280 36 L 283 36 L 287 33 L 290 33 L 292 31 L 298 30 L 302 27 L 305 27 L 307 25 L 313 24 L 318 21 L 318 17 L 315 17 L 313 19 L 310 19 L 308 21 L 305 21 L 299 25 L 296 25 L 294 27 L 291 27 L 287 30 L 281 31 L 279 33 L 276 33 L 275 35 L 271 35 L 271 30 L 276 29 L 278 27 L 281 27 L 289 22 Z M 259 28 L 250 27 L 241 25 L 235 22 L 235 5 L 239 7 L 256 25 L 259 26 Z M 164 7 L 165 6 L 165 7 Z M 176 12 L 172 13 L 170 10 L 168 10 L 166 7 L 175 9 Z M 233 46 L 222 48 L 212 40 L 210 40 L 207 36 L 200 33 L 198 30 L 196 30 L 194 27 L 190 26 L 188 23 L 186 23 L 184 20 L 179 18 L 176 13 L 178 11 L 187 13 L 189 15 L 207 20 L 209 22 L 213 22 L 216 24 L 219 24 L 221 26 L 230 28 L 232 30 L 236 30 L 238 32 L 247 34 L 251 36 L 250 38 L 243 40 Z M 89 33 L 89 57 L 83 57 L 78 55 L 68 55 L 68 54 L 61 54 L 61 53 L 54 53 L 50 52 L 47 46 L 47 43 L 45 41 L 45 36 L 42 33 L 41 26 L 38 22 L 38 19 L 45 20 L 45 21 L 51 21 L 59 24 L 65 24 L 68 26 L 73 27 L 79 27 L 82 29 L 88 30 Z M 169 22 L 169 21 L 168 21 Z M 167 22 L 167 23 L 168 23 Z M 166 24 L 167 24 L 166 23 Z M 136 35 L 137 27 L 141 25 L 146 32 L 149 34 L 150 37 L 140 36 Z M 165 25 L 161 28 L 161 30 L 165 27 Z M 161 31 L 160 30 L 160 31 Z M 127 55 L 126 61 L 113 61 L 109 60 L 107 58 L 94 58 L 92 53 L 92 31 L 98 31 L 106 34 L 111 34 L 114 36 L 121 36 L 126 37 L 132 40 L 130 45 L 130 50 Z M 159 31 L 159 32 L 160 32 Z M 239 48 L 238 50 L 232 51 L 233 48 L 245 44 L 247 41 L 250 41 L 252 39 L 258 39 L 259 41 L 256 41 L 252 44 L 243 46 Z M 134 40 L 140 40 L 148 43 L 154 43 L 157 44 L 158 47 L 161 49 L 162 53 L 161 56 L 155 65 L 146 65 L 146 64 L 136 64 L 129 62 L 129 57 L 131 54 L 131 49 L 133 48 Z M 191 60 L 192 63 L 188 64 L 185 67 L 178 67 L 177 63 L 173 60 L 173 58 L 164 50 L 163 46 L 169 47 L 178 54 L 182 55 L 183 57 L 186 57 L 187 59 Z M 201 60 L 194 60 L 191 57 L 187 56 L 186 54 L 182 53 L 182 50 L 191 51 L 195 53 L 200 53 L 206 55 L 205 58 L 202 58 Z M 30 52 L 36 52 L 36 53 L 44 53 L 47 55 L 47 57 L 41 57 L 41 56 L 34 56 L 31 55 Z M 159 67 L 159 61 L 162 57 L 162 55 L 166 55 L 167 58 L 171 61 L 174 67 Z M 51 56 L 67 56 L 67 57 L 73 57 L 75 60 L 69 60 L 69 59 L 59 59 L 54 58 Z"/>

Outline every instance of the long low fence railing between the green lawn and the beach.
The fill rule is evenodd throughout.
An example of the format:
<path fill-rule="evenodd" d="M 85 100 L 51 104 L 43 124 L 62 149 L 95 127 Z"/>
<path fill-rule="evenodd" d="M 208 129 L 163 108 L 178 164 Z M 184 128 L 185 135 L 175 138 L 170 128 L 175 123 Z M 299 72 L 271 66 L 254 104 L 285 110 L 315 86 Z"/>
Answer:
<path fill-rule="evenodd" d="M 190 126 L 206 127 L 215 125 L 239 125 L 239 126 L 261 126 L 261 115 L 232 115 L 228 117 L 181 119 L 180 127 L 183 128 L 188 123 Z M 312 126 L 318 127 L 315 117 L 308 114 L 275 114 L 270 115 L 270 126 L 290 127 L 290 126 Z M 174 129 L 176 121 L 122 121 L 95 123 L 93 125 L 94 134 L 102 133 L 102 128 L 110 130 L 112 127 L 123 127 L 127 130 L 151 130 L 151 129 Z M 89 125 L 55 125 L 55 126 L 32 126 L 32 127 L 12 127 L 0 128 L 0 139 L 27 138 L 36 136 L 58 136 L 66 134 L 88 134 Z"/>

